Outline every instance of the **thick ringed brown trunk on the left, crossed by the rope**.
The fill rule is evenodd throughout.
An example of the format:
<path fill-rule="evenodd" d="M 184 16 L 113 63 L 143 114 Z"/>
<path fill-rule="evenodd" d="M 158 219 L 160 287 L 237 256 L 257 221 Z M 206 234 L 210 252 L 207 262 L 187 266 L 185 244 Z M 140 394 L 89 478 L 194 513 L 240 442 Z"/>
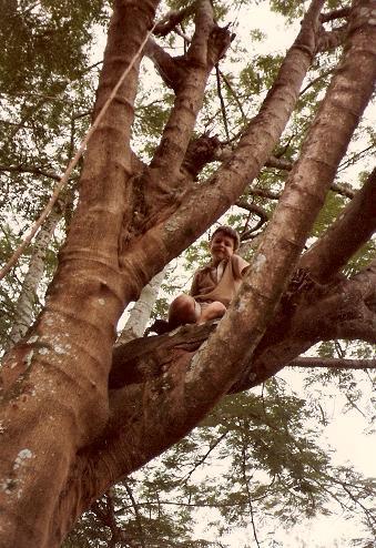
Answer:
<path fill-rule="evenodd" d="M 95 113 L 144 40 L 156 4 L 115 2 Z M 114 325 L 125 303 L 118 248 L 130 214 L 125 182 L 136 81 L 138 63 L 88 145 L 80 202 L 47 306 L 29 339 L 8 353 L 8 368 L 27 372 L 1 409 L 4 546 L 59 546 L 71 522 L 60 498 L 75 454 L 108 419 Z"/>

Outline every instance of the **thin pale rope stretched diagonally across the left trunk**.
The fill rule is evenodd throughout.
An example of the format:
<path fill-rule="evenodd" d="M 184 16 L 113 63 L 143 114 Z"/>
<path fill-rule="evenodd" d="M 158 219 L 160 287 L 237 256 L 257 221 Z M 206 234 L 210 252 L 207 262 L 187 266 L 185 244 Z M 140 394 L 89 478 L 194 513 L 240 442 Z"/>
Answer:
<path fill-rule="evenodd" d="M 129 72 L 131 71 L 132 67 L 134 65 L 138 57 L 140 55 L 141 51 L 143 50 L 145 43 L 148 42 L 149 37 L 153 32 L 155 26 L 156 26 L 156 22 L 153 24 L 153 27 L 146 33 L 146 37 L 144 38 L 144 40 L 141 43 L 140 48 L 138 49 L 136 53 L 133 55 L 130 64 L 126 67 L 126 69 L 124 70 L 124 72 L 120 77 L 116 85 L 113 88 L 112 92 L 110 93 L 109 99 L 105 101 L 105 103 L 102 106 L 100 113 L 95 118 L 92 126 L 90 128 L 90 130 L 88 131 L 88 133 L 85 134 L 85 136 L 83 138 L 83 140 L 81 141 L 80 146 L 78 148 L 74 156 L 70 161 L 70 163 L 69 163 L 69 165 L 68 165 L 68 168 L 65 170 L 65 173 L 62 175 L 62 177 L 60 179 L 59 183 L 54 187 L 54 191 L 53 191 L 53 193 L 52 193 L 52 195 L 51 195 L 51 197 L 50 197 L 47 206 L 42 211 L 41 215 L 35 221 L 35 223 L 32 225 L 29 234 L 24 237 L 23 242 L 21 242 L 21 244 L 17 247 L 17 250 L 14 251 L 14 253 L 12 254 L 12 256 L 10 257 L 10 260 L 7 262 L 7 264 L 0 270 L 0 280 L 2 280 L 10 272 L 10 270 L 16 265 L 16 263 L 18 262 L 18 260 L 20 258 L 20 256 L 22 255 L 22 253 L 24 252 L 24 250 L 28 247 L 28 245 L 30 244 L 30 242 L 32 241 L 32 239 L 37 234 L 38 230 L 41 227 L 41 225 L 44 223 L 44 221 L 48 217 L 48 215 L 51 213 L 52 207 L 53 207 L 55 201 L 58 200 L 60 192 L 62 191 L 63 186 L 67 184 L 70 174 L 72 173 L 73 169 L 75 168 L 75 165 L 78 164 L 80 158 L 82 156 L 82 154 L 84 152 L 84 149 L 85 149 L 85 146 L 87 146 L 90 138 L 92 136 L 92 134 L 96 130 L 99 123 L 102 121 L 102 118 L 104 116 L 104 114 L 105 114 L 105 112 L 106 112 L 106 110 L 108 110 L 111 101 L 114 99 L 115 94 L 119 91 L 119 88 L 121 87 L 121 84 L 125 80 L 125 77 L 129 74 Z"/>

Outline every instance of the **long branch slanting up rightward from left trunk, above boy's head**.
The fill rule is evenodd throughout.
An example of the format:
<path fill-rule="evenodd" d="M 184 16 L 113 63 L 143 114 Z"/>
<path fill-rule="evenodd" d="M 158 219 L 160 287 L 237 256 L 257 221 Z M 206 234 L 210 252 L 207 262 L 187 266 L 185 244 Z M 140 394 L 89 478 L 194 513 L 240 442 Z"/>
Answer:
<path fill-rule="evenodd" d="M 315 33 L 316 23 L 309 12 L 260 113 L 251 121 L 231 159 L 205 183 L 192 186 L 185 194 L 175 194 L 173 203 L 159 212 L 154 220 L 159 223 L 143 233 L 140 240 L 142 256 L 132 253 L 132 250 L 126 252 L 124 264 L 131 268 L 130 278 L 139 281 L 140 292 L 164 264 L 207 230 L 258 174 L 294 110 L 302 81 L 315 52 Z M 170 168 L 171 164 L 166 165 L 167 173 L 171 172 Z M 197 209 L 197 204 L 201 207 Z M 191 211 L 195 211 L 194 226 Z M 172 214 L 173 220 L 170 220 Z M 157 248 L 155 242 L 160 243 Z"/>

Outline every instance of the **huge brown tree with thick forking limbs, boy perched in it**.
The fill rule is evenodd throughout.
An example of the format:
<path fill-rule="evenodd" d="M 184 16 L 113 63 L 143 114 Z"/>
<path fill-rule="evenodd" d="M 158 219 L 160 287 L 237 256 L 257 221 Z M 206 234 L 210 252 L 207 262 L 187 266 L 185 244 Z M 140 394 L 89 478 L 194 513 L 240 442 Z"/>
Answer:
<path fill-rule="evenodd" d="M 322 13 L 325 1 L 313 0 L 262 108 L 225 150 L 195 132 L 207 79 L 232 39 L 213 3 L 197 0 L 155 26 L 157 0 L 113 4 L 79 202 L 45 305 L 1 371 L 3 546 L 59 546 L 101 494 L 175 444 L 224 395 L 302 365 L 299 355 L 315 343 L 376 341 L 375 260 L 342 275 L 375 230 L 376 170 L 327 231 L 307 241 L 374 91 L 376 2 L 354 0 Z M 183 55 L 171 57 L 152 34 L 169 35 L 190 18 Z M 325 23 L 337 19 L 343 24 L 327 31 Z M 281 165 L 273 151 L 302 82 L 321 52 L 341 44 L 224 318 L 114 348 L 125 306 L 246 194 L 265 164 Z M 148 163 L 130 144 L 141 50 L 174 92 Z M 217 168 L 202 174 L 213 160 Z"/>

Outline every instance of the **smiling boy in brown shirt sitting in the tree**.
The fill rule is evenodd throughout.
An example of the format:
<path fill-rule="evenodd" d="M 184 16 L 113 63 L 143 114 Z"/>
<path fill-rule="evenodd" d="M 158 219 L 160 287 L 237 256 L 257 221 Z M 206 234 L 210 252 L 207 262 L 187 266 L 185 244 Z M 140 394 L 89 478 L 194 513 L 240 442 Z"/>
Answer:
<path fill-rule="evenodd" d="M 170 305 L 169 329 L 184 324 L 203 324 L 222 317 L 236 294 L 248 263 L 235 252 L 240 236 L 231 226 L 220 226 L 210 241 L 211 262 L 194 274 L 189 295 Z"/>

